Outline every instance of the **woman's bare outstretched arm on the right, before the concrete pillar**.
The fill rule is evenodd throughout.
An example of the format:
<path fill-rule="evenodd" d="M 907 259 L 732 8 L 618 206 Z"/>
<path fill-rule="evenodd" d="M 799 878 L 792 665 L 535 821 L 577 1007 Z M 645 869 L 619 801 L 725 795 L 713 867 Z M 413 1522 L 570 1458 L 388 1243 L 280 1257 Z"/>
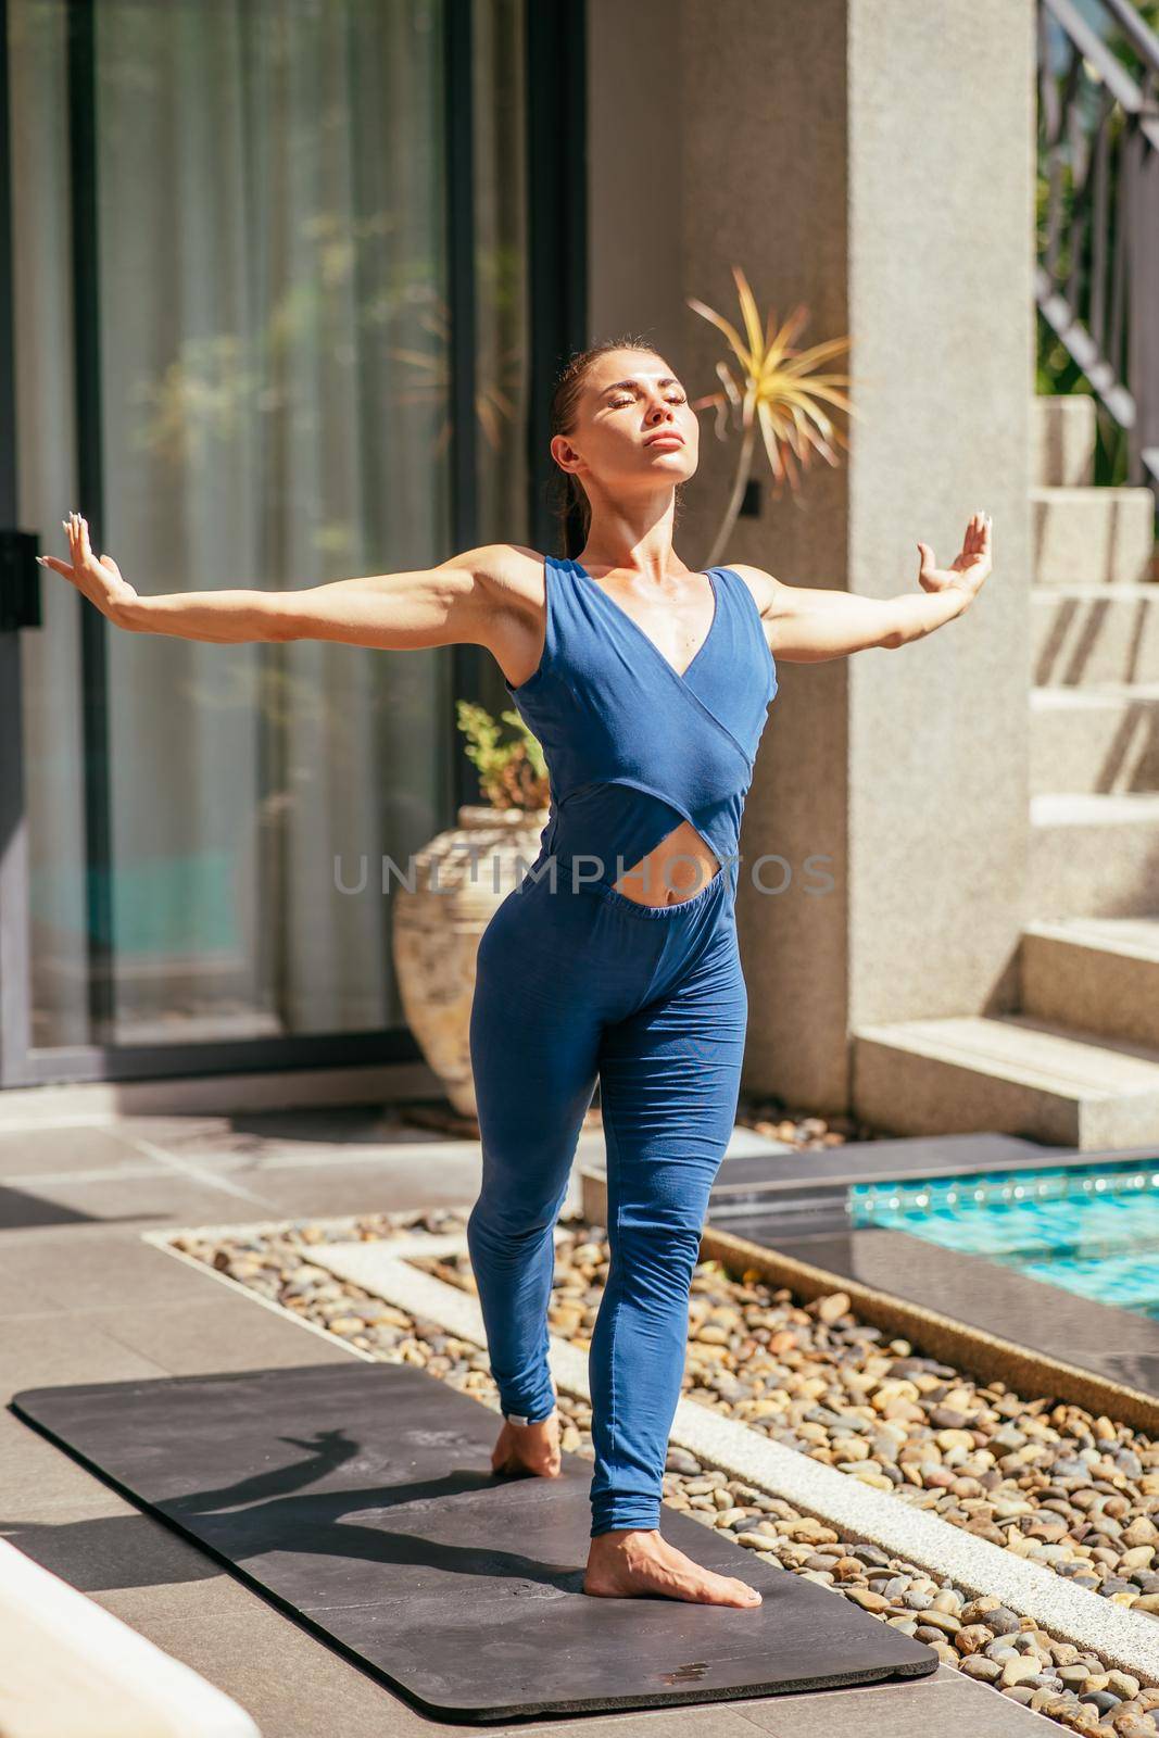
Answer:
<path fill-rule="evenodd" d="M 785 586 L 763 574 L 768 584 L 761 617 L 773 657 L 815 664 L 869 647 L 904 647 L 954 620 L 970 608 L 990 572 L 989 513 L 973 514 L 950 567 L 935 567 L 928 544 L 919 542 L 917 553 L 921 591 L 897 598 Z"/>

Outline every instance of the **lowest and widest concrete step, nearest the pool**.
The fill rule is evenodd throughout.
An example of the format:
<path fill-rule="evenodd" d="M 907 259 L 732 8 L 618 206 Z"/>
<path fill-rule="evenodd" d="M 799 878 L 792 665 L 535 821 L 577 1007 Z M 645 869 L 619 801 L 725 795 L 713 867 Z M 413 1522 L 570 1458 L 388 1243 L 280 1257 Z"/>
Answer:
<path fill-rule="evenodd" d="M 1142 1147 L 1159 1140 L 1159 1050 L 1020 1013 L 862 1025 L 853 1109 L 891 1135 Z"/>

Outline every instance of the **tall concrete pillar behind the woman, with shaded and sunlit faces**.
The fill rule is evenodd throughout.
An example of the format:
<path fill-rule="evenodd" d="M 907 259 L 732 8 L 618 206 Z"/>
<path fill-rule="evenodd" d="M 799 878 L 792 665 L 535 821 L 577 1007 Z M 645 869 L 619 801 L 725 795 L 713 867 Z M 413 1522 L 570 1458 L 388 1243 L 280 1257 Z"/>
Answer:
<path fill-rule="evenodd" d="M 839 469 L 742 518 L 726 560 L 785 584 L 917 593 L 977 507 L 996 572 L 895 652 L 782 659 L 742 834 L 745 1088 L 848 1105 L 864 1022 L 1013 1006 L 1027 911 L 1032 0 L 589 0 L 591 327 L 648 330 L 693 395 L 738 325 L 810 308 L 851 334 L 862 419 Z M 702 422 L 678 547 L 700 565 L 735 436 Z M 749 881 L 785 859 L 778 895 Z M 810 892 L 820 857 L 831 892 Z M 785 871 L 768 867 L 780 885 Z"/>

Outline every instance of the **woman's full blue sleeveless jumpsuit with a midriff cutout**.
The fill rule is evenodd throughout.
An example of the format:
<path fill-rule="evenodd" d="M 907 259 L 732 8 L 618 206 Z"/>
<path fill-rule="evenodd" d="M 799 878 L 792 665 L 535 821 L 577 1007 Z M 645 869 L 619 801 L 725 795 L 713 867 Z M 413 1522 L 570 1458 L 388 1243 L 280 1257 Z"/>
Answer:
<path fill-rule="evenodd" d="M 740 575 L 707 577 L 712 627 L 679 674 L 579 561 L 547 556 L 544 653 L 506 683 L 551 805 L 476 958 L 467 1241 L 502 1411 L 546 1418 L 553 1227 L 598 1079 L 610 1265 L 589 1350 L 593 1535 L 660 1524 L 692 1272 L 740 1095 L 740 817 L 777 666 Z M 681 820 L 721 871 L 669 905 L 617 892 Z"/>

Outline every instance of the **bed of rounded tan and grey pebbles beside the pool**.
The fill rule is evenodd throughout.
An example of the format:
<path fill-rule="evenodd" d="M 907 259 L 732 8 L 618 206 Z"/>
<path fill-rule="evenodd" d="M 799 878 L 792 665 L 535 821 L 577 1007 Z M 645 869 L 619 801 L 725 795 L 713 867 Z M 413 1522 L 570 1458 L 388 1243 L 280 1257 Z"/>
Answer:
<path fill-rule="evenodd" d="M 462 1211 L 438 1210 L 341 1225 L 302 1220 L 271 1232 L 181 1234 L 174 1246 L 360 1350 L 424 1368 L 499 1411 L 481 1347 L 335 1279 L 309 1258 L 320 1243 L 464 1229 Z M 586 1347 L 606 1270 L 606 1236 L 582 1220 L 563 1222 L 561 1231 L 551 1324 Z M 466 1260 L 414 1253 L 408 1260 L 474 1290 Z M 1150 1535 L 1159 1538 L 1150 1521 L 1159 1512 L 1159 1451 L 1110 1420 L 1022 1401 L 1001 1383 L 982 1387 L 916 1356 L 905 1342 L 884 1342 L 879 1330 L 855 1321 L 841 1293 L 801 1309 L 756 1276 L 737 1277 L 718 1262 L 702 1262 L 692 1286 L 685 1396 L 851 1477 L 881 1481 L 883 1489 L 935 1507 L 944 1519 L 1058 1573 L 1070 1561 L 1089 1562 L 1091 1573 L 1076 1576 L 1084 1585 L 1159 1613 L 1159 1575 L 1150 1568 L 1159 1562 L 1150 1545 Z M 563 1448 L 591 1460 L 591 1406 L 568 1394 L 558 1401 Z M 876 1545 L 843 1540 L 824 1521 L 678 1446 L 669 1449 L 664 1502 L 730 1531 L 763 1561 L 834 1589 L 931 1646 L 966 1677 L 1070 1731 L 1159 1738 L 1159 1688 L 1051 1637 L 996 1597 L 971 1597 Z M 1136 1521 L 1145 1528 L 1133 1533 Z M 1074 1557 L 1056 1550 L 1063 1535 Z"/>

